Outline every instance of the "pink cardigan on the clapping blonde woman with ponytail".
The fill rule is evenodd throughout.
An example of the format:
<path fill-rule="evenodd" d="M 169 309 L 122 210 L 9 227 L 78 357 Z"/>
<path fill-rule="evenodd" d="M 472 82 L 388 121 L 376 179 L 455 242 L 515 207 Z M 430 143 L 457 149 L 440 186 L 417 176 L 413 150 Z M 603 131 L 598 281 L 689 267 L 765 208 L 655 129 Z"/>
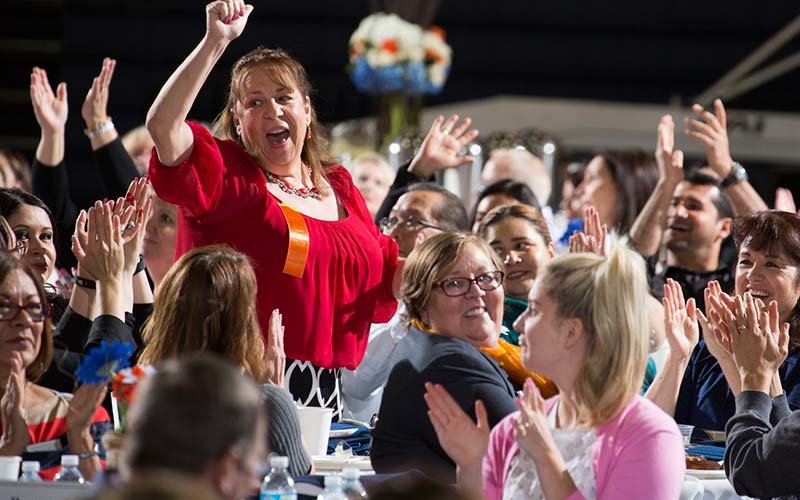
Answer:
<path fill-rule="evenodd" d="M 558 396 L 547 400 L 549 411 Z M 520 447 L 514 439 L 519 412 L 498 423 L 483 459 L 483 494 L 502 499 L 505 479 Z M 686 472 L 683 438 L 675 421 L 650 401 L 635 396 L 620 414 L 597 428 L 592 450 L 597 498 L 674 500 Z M 582 499 L 575 491 L 569 497 Z"/>

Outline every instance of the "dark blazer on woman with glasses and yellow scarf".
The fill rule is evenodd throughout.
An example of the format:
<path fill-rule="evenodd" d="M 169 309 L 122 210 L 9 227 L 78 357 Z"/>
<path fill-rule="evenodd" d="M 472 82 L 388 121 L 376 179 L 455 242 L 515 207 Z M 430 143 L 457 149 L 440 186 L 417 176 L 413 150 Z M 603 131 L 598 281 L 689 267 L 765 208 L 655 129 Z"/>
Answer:
<path fill-rule="evenodd" d="M 475 401 L 482 400 L 491 426 L 516 411 L 516 394 L 497 363 L 462 340 L 410 327 L 401 343 L 409 344 L 409 355 L 395 365 L 383 391 L 372 467 L 378 473 L 419 469 L 455 482 L 455 464 L 428 419 L 424 383 L 444 386 L 473 420 Z"/>

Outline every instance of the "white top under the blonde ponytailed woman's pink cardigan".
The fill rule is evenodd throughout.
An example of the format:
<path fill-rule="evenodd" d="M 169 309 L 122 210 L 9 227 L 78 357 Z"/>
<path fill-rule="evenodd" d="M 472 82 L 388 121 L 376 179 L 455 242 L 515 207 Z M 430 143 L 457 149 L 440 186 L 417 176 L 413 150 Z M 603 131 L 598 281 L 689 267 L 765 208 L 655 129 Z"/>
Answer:
<path fill-rule="evenodd" d="M 594 429 L 584 431 L 576 429 L 557 429 L 556 415 L 558 403 L 553 405 L 547 415 L 550 431 L 561 457 L 567 465 L 572 481 L 584 498 L 592 500 L 597 497 L 592 461 L 592 445 L 596 438 Z M 508 478 L 503 490 L 503 500 L 543 499 L 542 485 L 536 472 L 536 464 L 525 451 L 520 449 L 512 459 Z"/>

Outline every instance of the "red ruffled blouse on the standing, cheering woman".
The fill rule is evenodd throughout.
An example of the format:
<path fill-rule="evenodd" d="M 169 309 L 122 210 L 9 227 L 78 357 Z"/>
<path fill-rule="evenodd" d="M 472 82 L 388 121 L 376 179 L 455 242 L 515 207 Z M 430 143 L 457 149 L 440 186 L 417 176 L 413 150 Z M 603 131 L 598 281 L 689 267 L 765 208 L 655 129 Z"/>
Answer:
<path fill-rule="evenodd" d="M 354 369 L 364 356 L 370 324 L 388 321 L 397 307 L 392 279 L 398 254 L 395 242 L 372 221 L 350 174 L 342 166 L 326 169 L 347 217 L 302 216 L 310 242 L 303 277 L 295 278 L 283 273 L 288 225 L 256 160 L 238 143 L 188 124 L 194 134 L 189 158 L 168 167 L 154 153 L 149 169 L 158 196 L 179 206 L 175 259 L 215 243 L 244 253 L 258 281 L 265 339 L 270 314 L 280 309 L 287 357 Z"/>

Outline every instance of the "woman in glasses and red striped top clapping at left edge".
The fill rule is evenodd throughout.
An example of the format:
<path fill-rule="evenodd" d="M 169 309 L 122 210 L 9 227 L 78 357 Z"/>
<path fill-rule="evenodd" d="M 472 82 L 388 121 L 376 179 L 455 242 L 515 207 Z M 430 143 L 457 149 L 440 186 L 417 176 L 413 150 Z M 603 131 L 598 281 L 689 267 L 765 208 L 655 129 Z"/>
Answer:
<path fill-rule="evenodd" d="M 73 396 L 36 384 L 50 366 L 52 335 L 38 272 L 0 252 L 0 456 L 37 460 L 50 479 L 61 455 L 78 455 L 79 469 L 91 480 L 101 468 L 96 445 L 110 428 L 100 407 L 105 386 L 83 385 Z M 30 451 L 37 444 L 41 451 Z"/>

